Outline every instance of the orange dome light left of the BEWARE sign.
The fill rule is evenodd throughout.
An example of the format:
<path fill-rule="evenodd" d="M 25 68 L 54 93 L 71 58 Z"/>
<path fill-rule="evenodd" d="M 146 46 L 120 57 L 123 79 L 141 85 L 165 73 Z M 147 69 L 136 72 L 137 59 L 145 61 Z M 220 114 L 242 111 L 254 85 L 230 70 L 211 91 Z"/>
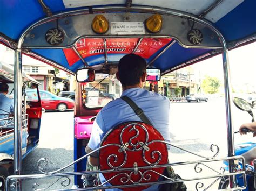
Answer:
<path fill-rule="evenodd" d="M 109 30 L 109 22 L 103 15 L 96 15 L 92 20 L 92 30 L 97 34 L 104 34 Z"/>

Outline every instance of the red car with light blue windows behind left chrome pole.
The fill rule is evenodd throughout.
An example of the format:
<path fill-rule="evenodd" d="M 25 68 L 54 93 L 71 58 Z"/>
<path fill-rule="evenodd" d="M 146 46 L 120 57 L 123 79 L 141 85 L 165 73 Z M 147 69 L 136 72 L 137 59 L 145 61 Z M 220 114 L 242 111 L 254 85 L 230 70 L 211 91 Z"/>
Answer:
<path fill-rule="evenodd" d="M 49 91 L 39 90 L 41 97 L 42 107 L 45 110 L 59 110 L 65 111 L 67 109 L 74 109 L 75 102 L 66 97 L 60 97 L 55 94 L 50 93 Z M 37 96 L 35 90 L 26 91 L 27 100 L 33 100 L 33 97 Z"/>

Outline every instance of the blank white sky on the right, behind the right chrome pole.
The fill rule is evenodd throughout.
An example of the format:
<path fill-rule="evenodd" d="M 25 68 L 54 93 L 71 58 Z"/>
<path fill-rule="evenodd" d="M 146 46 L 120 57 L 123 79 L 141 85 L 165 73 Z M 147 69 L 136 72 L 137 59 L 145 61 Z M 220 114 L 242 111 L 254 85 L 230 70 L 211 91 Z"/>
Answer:
<path fill-rule="evenodd" d="M 251 86 L 256 91 L 256 43 L 245 45 L 229 51 L 231 84 L 234 87 Z M 223 83 L 222 55 L 198 62 L 191 66 L 195 77 L 201 74 L 201 80 L 205 75 L 217 77 Z"/>

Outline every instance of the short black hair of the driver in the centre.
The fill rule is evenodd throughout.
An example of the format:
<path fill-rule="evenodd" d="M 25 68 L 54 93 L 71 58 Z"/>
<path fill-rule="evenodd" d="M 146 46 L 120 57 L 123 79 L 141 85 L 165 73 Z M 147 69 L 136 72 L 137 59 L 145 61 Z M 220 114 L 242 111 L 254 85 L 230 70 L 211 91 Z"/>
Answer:
<path fill-rule="evenodd" d="M 146 61 L 136 54 L 126 54 L 118 64 L 119 79 L 122 86 L 133 86 L 140 82 L 146 72 Z"/>

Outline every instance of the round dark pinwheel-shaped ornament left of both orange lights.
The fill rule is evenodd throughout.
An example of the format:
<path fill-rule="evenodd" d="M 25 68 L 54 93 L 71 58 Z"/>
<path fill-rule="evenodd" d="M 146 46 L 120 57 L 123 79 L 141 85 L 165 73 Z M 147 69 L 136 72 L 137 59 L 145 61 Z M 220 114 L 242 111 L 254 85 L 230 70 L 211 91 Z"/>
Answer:
<path fill-rule="evenodd" d="M 49 29 L 45 34 L 45 40 L 50 45 L 58 45 L 64 40 L 63 32 L 59 29 Z"/>

